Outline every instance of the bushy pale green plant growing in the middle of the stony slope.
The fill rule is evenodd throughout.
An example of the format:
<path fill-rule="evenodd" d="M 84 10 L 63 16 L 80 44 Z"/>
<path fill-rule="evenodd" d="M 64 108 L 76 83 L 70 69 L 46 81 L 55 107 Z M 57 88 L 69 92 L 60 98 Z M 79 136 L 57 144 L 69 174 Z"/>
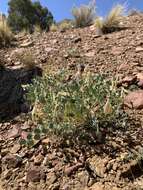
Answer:
<path fill-rule="evenodd" d="M 48 134 L 67 136 L 79 127 L 98 130 L 114 121 L 121 100 L 115 81 L 91 74 L 65 81 L 66 76 L 65 72 L 45 74 L 29 86 L 34 122 Z"/>

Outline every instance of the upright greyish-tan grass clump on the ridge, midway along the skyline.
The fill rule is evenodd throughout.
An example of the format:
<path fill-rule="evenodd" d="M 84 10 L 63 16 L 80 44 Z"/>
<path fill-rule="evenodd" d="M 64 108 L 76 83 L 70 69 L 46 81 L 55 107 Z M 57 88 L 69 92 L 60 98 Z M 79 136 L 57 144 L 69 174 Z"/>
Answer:
<path fill-rule="evenodd" d="M 90 26 L 94 22 L 95 18 L 95 3 L 89 3 L 88 5 L 81 5 L 80 7 L 74 7 L 72 9 L 74 16 L 74 24 L 76 27 Z"/>

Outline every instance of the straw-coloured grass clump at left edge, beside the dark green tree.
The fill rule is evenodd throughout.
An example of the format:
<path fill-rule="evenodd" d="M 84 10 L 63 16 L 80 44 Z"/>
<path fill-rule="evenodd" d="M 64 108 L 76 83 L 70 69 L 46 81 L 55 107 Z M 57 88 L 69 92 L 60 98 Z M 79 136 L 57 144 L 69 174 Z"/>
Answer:
<path fill-rule="evenodd" d="M 11 32 L 10 27 L 7 24 L 6 18 L 0 17 L 0 47 L 8 46 L 11 44 L 11 41 L 14 39 L 14 36 Z"/>

